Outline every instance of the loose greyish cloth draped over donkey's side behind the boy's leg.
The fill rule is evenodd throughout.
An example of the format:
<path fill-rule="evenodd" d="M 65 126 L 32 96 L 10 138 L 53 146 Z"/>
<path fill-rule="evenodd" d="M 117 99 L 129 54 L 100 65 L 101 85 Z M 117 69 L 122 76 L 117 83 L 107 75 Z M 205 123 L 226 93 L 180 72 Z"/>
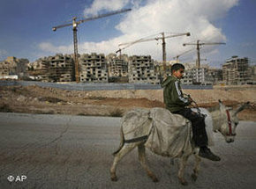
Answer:
<path fill-rule="evenodd" d="M 192 153 L 192 125 L 183 116 L 170 113 L 165 108 L 150 111 L 152 130 L 145 146 L 155 154 L 180 157 Z"/>

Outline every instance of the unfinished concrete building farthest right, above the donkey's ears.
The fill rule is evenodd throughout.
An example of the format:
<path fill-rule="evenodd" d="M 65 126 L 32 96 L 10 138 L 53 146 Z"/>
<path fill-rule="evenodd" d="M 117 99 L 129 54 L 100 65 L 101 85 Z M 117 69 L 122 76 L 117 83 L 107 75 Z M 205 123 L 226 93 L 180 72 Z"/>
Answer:
<path fill-rule="evenodd" d="M 232 56 L 222 65 L 225 84 L 247 84 L 251 79 L 248 58 Z"/>

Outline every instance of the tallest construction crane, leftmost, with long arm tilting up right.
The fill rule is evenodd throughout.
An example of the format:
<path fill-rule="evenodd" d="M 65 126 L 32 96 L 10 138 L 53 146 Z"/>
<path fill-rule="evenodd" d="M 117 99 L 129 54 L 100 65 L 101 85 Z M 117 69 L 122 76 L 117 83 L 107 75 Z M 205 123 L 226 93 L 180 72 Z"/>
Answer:
<path fill-rule="evenodd" d="M 78 36 L 77 36 L 79 24 L 90 21 L 90 20 L 98 19 L 98 18 L 109 17 L 109 16 L 112 16 L 115 14 L 126 12 L 126 11 L 132 11 L 132 9 L 122 9 L 119 11 L 112 11 L 112 12 L 108 12 L 105 14 L 93 16 L 91 18 L 85 18 L 85 19 L 80 19 L 80 20 L 76 20 L 77 17 L 74 17 L 74 18 L 72 18 L 72 23 L 70 23 L 70 24 L 57 25 L 57 26 L 52 27 L 52 30 L 54 32 L 57 29 L 62 28 L 62 27 L 66 27 L 66 26 L 70 26 L 70 25 L 72 25 L 72 27 L 73 27 L 72 30 L 73 30 L 73 42 L 74 42 L 74 62 L 75 62 L 75 76 L 76 76 L 77 83 L 79 83 L 79 60 L 78 60 L 79 50 L 78 50 Z"/>

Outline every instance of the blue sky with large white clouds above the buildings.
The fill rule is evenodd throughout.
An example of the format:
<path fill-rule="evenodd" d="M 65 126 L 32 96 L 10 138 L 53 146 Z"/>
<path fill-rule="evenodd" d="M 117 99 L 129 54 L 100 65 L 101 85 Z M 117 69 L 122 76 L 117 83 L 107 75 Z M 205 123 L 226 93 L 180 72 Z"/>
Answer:
<path fill-rule="evenodd" d="M 7 56 L 28 58 L 72 54 L 72 26 L 52 27 L 72 22 L 72 17 L 90 18 L 96 14 L 132 8 L 132 11 L 95 19 L 79 25 L 79 54 L 115 53 L 118 44 L 154 39 L 160 33 L 191 36 L 166 39 L 167 60 L 195 46 L 183 43 L 225 42 L 202 46 L 201 58 L 220 66 L 232 55 L 256 60 L 255 0 L 1 0 L 0 60 Z M 162 60 L 162 40 L 136 43 L 123 50 L 128 55 L 152 55 Z M 196 59 L 196 51 L 180 56 L 183 62 Z"/>

